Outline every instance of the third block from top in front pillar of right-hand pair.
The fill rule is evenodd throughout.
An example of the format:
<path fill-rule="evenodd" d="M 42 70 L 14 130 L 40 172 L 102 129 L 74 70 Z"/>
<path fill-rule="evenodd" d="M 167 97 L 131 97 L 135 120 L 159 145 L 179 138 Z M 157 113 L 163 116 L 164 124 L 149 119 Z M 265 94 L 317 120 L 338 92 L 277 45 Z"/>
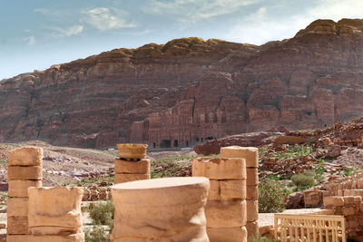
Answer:
<path fill-rule="evenodd" d="M 207 227 L 243 227 L 247 221 L 245 200 L 208 201 Z"/>

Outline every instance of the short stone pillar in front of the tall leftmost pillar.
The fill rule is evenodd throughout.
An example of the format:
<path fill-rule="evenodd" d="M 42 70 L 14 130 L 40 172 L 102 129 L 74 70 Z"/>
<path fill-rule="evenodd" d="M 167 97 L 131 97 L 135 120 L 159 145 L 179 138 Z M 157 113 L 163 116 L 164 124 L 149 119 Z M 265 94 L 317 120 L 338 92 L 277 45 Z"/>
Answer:
<path fill-rule="evenodd" d="M 29 242 L 83 242 L 83 188 L 29 188 Z"/>

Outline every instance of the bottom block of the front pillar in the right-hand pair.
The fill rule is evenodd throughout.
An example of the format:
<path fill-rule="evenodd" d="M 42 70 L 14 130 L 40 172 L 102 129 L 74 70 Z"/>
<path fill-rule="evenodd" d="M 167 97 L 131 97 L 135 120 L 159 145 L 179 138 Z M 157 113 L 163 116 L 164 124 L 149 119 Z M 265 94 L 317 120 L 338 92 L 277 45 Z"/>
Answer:
<path fill-rule="evenodd" d="M 246 227 L 207 227 L 211 242 L 247 242 Z"/>

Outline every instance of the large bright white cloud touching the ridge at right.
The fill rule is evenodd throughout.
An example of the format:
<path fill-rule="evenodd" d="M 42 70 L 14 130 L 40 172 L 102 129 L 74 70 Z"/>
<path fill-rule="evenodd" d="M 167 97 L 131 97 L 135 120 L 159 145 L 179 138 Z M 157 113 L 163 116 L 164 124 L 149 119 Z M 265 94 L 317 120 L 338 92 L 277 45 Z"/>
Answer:
<path fill-rule="evenodd" d="M 240 43 L 265 44 L 291 38 L 317 19 L 338 21 L 341 18 L 363 17 L 361 0 L 319 0 L 315 4 L 309 9 L 301 9 L 299 14 L 295 15 L 289 15 L 287 8 L 286 15 L 279 17 L 274 15 L 273 10 L 274 7 L 282 7 L 279 2 L 275 2 L 275 5 L 265 5 L 255 13 L 240 18 L 224 38 Z"/>

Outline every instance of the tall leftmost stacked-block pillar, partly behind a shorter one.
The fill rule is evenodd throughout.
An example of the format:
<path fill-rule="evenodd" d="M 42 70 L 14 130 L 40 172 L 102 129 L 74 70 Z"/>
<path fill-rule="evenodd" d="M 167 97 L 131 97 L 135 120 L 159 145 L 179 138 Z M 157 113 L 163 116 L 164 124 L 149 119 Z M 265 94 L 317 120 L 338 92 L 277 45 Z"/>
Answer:
<path fill-rule="evenodd" d="M 24 242 L 29 237 L 28 188 L 42 187 L 42 161 L 41 148 L 25 147 L 9 152 L 6 241 Z"/>

